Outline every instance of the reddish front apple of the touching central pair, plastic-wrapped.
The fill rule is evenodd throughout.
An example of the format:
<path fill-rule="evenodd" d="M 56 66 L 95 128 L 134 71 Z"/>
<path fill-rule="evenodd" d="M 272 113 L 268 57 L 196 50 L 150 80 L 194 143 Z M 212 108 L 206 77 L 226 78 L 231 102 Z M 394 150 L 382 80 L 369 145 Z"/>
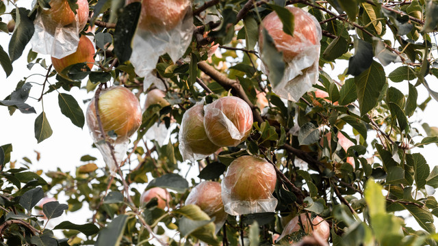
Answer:
<path fill-rule="evenodd" d="M 237 146 L 250 134 L 253 111 L 244 100 L 225 96 L 205 106 L 204 126 L 217 146 Z"/>

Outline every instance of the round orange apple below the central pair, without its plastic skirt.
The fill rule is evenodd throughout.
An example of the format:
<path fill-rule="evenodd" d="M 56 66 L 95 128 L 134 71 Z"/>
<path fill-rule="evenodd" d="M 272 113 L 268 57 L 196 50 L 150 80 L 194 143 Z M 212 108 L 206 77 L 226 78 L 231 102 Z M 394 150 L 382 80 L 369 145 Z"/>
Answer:
<path fill-rule="evenodd" d="M 240 156 L 228 167 L 222 180 L 222 200 L 256 201 L 270 199 L 276 184 L 272 164 L 253 156 Z"/>

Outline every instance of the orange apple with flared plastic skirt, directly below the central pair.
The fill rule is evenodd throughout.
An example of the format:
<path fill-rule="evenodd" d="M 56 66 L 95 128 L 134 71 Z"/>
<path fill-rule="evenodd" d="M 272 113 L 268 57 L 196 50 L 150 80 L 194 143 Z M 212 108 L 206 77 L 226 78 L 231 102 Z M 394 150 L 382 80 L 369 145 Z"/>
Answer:
<path fill-rule="evenodd" d="M 274 212 L 275 184 L 272 164 L 257 157 L 240 156 L 229 165 L 222 180 L 225 212 L 230 215 Z"/>

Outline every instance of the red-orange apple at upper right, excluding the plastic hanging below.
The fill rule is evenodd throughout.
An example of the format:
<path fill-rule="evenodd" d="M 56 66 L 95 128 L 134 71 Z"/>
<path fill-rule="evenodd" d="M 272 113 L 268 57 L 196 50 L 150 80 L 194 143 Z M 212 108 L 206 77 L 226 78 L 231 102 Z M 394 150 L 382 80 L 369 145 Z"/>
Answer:
<path fill-rule="evenodd" d="M 310 14 L 296 7 L 286 6 L 294 14 L 294 36 L 283 31 L 283 23 L 276 12 L 271 12 L 261 21 L 260 28 L 268 31 L 278 51 L 283 52 L 285 61 L 292 61 L 296 55 L 309 46 L 319 43 L 318 27 Z M 259 31 L 259 48 L 263 47 L 263 32 Z M 318 48 L 319 49 L 319 48 Z"/>

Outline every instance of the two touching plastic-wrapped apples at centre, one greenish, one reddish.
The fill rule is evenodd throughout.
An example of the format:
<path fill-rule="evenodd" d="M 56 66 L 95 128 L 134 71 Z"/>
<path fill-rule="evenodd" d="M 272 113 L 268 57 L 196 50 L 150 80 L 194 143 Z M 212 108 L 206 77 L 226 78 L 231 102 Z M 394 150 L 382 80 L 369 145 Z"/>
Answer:
<path fill-rule="evenodd" d="M 179 150 L 184 159 L 208 156 L 220 147 L 237 146 L 253 127 L 249 105 L 235 96 L 219 98 L 209 105 L 197 103 L 185 111 L 179 130 Z"/>

